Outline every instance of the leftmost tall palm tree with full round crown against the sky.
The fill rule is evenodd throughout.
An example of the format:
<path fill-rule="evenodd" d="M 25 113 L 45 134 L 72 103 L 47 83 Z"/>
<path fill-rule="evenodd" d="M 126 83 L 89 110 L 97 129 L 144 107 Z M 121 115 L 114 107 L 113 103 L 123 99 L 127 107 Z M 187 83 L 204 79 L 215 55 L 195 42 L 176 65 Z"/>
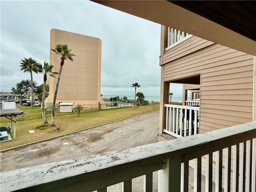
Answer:
<path fill-rule="evenodd" d="M 40 64 L 32 58 L 24 58 L 20 61 L 20 67 L 23 72 L 30 73 L 30 85 L 31 85 L 31 108 L 34 108 L 34 85 L 33 85 L 33 72 L 41 72 Z"/>

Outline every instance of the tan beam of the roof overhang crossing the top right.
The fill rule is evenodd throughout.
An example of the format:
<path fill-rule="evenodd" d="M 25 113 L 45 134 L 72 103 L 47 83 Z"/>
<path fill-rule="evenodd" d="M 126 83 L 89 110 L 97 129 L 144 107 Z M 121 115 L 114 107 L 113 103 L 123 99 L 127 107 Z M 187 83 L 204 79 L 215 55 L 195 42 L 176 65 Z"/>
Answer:
<path fill-rule="evenodd" d="M 94 1 L 113 9 L 123 11 L 137 17 L 185 31 L 186 33 L 207 39 L 233 49 L 256 55 L 256 42 L 254 37 L 243 33 L 244 28 L 234 31 L 220 21 L 222 17 L 211 21 L 198 14 L 188 11 L 188 6 L 182 8 L 169 1 Z M 191 9 L 190 9 L 191 10 Z M 192 10 L 193 11 L 193 10 Z M 218 14 L 218 13 L 216 13 Z M 239 15 L 239 14 L 237 14 Z M 255 18 L 255 17 L 254 17 Z M 237 18 L 241 20 L 241 18 Z M 236 20 L 236 18 L 234 18 Z M 218 23 L 220 24 L 218 24 Z M 235 21 L 234 21 L 235 22 Z M 223 26 L 222 26 L 223 25 Z M 229 27 L 229 28 L 228 28 Z M 250 38 L 249 38 L 250 37 Z"/>

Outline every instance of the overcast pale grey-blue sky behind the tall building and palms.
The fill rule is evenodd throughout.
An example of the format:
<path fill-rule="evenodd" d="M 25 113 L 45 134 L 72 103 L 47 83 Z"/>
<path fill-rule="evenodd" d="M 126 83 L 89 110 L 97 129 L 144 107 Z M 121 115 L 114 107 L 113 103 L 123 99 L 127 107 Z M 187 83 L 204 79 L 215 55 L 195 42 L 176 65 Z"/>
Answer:
<path fill-rule="evenodd" d="M 1 1 L 1 91 L 29 79 L 21 59 L 49 61 L 52 28 L 102 40 L 103 95 L 133 95 L 133 82 L 145 95 L 159 95 L 160 25 L 89 1 Z M 180 97 L 181 86 L 172 92 Z"/>

